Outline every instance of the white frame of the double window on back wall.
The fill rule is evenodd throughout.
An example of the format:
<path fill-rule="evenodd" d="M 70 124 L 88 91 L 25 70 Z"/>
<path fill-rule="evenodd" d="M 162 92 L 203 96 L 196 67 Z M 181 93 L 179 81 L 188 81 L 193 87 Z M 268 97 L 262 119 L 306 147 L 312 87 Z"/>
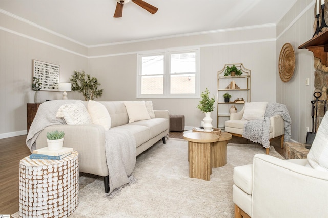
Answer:
<path fill-rule="evenodd" d="M 170 55 L 195 52 L 196 54 L 196 72 L 195 72 L 195 93 L 194 94 L 170 94 Z M 171 50 L 171 51 L 160 51 L 160 52 L 149 52 L 137 54 L 137 96 L 136 98 L 199 98 L 200 97 L 200 55 L 199 49 L 189 50 Z M 164 76 L 163 76 L 163 94 L 141 94 L 141 59 L 144 56 L 152 55 L 164 55 Z"/>

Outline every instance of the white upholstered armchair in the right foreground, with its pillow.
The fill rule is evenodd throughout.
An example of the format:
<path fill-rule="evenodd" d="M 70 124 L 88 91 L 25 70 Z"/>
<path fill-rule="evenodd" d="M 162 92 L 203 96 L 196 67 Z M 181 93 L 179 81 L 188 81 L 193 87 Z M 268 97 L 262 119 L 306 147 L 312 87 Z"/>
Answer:
<path fill-rule="evenodd" d="M 308 159 L 256 154 L 234 168 L 235 217 L 328 217 L 328 116 Z"/>

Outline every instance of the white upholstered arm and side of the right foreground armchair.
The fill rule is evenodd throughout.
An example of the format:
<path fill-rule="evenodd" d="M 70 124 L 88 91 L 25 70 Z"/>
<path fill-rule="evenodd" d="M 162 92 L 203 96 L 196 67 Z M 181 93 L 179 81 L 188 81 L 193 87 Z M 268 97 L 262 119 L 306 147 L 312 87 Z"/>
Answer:
<path fill-rule="evenodd" d="M 252 217 L 328 217 L 328 172 L 256 154 Z M 277 209 L 278 208 L 278 209 Z"/>

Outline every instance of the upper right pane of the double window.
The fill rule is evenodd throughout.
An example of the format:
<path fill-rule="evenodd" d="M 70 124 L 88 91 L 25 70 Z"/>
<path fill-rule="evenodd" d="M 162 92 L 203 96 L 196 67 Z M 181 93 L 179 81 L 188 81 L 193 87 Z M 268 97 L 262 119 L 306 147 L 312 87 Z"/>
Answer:
<path fill-rule="evenodd" d="M 171 55 L 171 74 L 196 72 L 196 53 L 180 53 Z"/>

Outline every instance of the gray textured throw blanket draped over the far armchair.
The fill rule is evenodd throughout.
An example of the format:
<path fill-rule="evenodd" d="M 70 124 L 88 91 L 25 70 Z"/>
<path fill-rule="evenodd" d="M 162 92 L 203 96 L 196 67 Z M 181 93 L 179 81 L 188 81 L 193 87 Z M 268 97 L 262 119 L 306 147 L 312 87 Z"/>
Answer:
<path fill-rule="evenodd" d="M 287 107 L 279 103 L 268 104 L 267 110 L 265 110 L 264 119 L 249 120 L 244 126 L 242 137 L 255 143 L 262 144 L 264 148 L 270 148 L 270 117 L 274 115 L 280 115 L 284 120 L 284 141 L 289 141 L 292 136 L 292 119 L 289 115 Z"/>

